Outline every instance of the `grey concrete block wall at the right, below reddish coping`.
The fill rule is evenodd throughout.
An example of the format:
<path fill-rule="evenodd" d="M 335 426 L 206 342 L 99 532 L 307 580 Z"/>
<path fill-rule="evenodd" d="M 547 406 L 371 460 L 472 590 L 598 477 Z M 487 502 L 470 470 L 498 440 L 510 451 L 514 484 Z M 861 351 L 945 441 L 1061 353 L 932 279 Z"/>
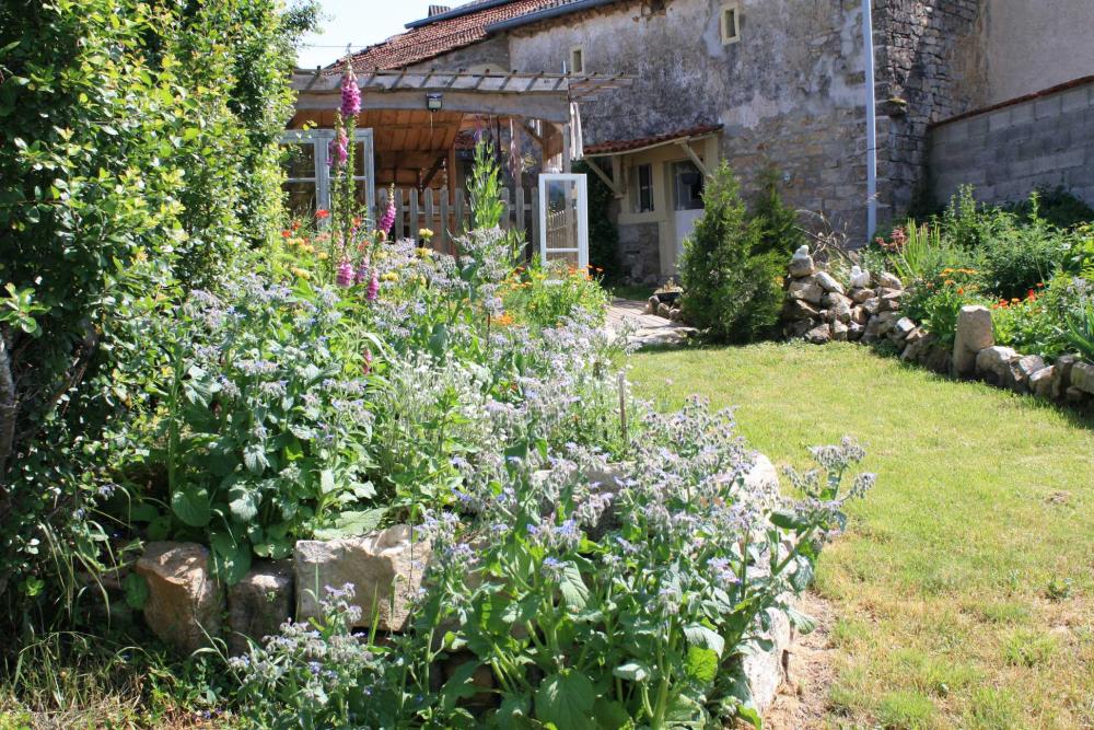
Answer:
<path fill-rule="evenodd" d="M 1094 204 L 1094 81 L 939 125 L 930 142 L 936 200 L 964 184 L 990 202 L 1062 185 Z"/>

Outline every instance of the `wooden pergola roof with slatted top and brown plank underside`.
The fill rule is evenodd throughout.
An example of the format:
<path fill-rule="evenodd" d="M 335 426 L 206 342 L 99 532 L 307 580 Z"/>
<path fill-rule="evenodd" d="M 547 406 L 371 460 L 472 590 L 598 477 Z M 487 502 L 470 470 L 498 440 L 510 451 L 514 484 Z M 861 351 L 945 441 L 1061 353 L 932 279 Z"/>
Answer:
<path fill-rule="evenodd" d="M 561 155 L 560 166 L 568 170 L 571 125 L 580 124 L 575 103 L 632 81 L 624 74 L 375 70 L 358 74 L 357 126 L 373 130 L 377 189 L 394 184 L 452 193 L 462 183 L 456 162 L 462 131 L 484 119 L 513 121 L 538 148 L 542 164 Z M 340 70 L 296 71 L 292 85 L 298 99 L 290 129 L 331 128 Z"/>

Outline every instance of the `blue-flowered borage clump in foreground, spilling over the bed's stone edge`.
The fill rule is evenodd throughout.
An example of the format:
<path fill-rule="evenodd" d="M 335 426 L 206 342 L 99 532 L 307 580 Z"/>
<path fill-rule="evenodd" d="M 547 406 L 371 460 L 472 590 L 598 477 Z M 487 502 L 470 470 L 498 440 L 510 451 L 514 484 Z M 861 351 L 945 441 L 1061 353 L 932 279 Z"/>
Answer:
<path fill-rule="evenodd" d="M 491 465 L 462 511 L 427 519 L 428 588 L 394 649 L 368 636 L 364 648 L 347 646 L 345 609 L 334 631 L 287 625 L 236 662 L 245 712 L 266 727 L 317 727 L 315 705 L 337 712 L 326 721 L 338 727 L 758 722 L 742 658 L 771 612 L 808 629 L 783 596 L 810 583 L 822 544 L 843 528 L 843 503 L 872 484 L 860 475 L 841 490 L 861 449 L 812 450 L 818 470 L 793 475 L 805 500 L 791 502 L 745 480 L 753 455 L 731 416 L 696 399 L 647 419 L 621 471 L 592 450 L 544 447 Z M 430 681 L 455 658 L 446 681 Z M 469 703 L 484 686 L 498 700 L 476 715 Z"/>

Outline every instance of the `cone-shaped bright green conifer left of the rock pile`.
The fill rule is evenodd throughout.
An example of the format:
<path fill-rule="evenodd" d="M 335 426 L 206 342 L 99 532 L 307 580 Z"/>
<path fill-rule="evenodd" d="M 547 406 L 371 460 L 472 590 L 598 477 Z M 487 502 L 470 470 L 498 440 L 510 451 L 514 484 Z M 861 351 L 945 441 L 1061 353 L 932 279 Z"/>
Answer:
<path fill-rule="evenodd" d="M 752 341 L 771 334 L 782 306 L 782 252 L 765 250 L 740 185 L 722 164 L 703 192 L 706 210 L 684 242 L 682 305 L 688 322 L 715 339 Z"/>

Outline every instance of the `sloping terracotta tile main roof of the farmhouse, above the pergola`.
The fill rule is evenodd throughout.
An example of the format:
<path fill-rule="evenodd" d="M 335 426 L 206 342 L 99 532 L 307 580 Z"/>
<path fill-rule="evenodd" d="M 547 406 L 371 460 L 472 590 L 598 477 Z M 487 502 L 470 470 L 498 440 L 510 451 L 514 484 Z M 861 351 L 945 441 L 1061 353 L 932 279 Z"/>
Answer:
<path fill-rule="evenodd" d="M 574 1 L 512 0 L 501 5 L 484 2 L 487 7 L 478 12 L 414 27 L 365 48 L 353 56 L 353 68 L 358 71 L 388 70 L 420 63 L 485 39 L 488 25 Z"/>

